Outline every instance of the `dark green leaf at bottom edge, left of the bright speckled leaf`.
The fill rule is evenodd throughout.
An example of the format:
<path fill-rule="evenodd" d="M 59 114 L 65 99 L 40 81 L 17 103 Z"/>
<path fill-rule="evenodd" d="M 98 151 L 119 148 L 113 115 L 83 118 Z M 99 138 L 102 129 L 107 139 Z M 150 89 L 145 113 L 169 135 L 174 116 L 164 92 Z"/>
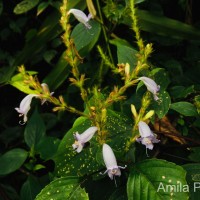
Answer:
<path fill-rule="evenodd" d="M 39 181 L 35 177 L 29 176 L 22 185 L 20 191 L 20 200 L 34 200 L 41 189 L 42 188 Z"/>

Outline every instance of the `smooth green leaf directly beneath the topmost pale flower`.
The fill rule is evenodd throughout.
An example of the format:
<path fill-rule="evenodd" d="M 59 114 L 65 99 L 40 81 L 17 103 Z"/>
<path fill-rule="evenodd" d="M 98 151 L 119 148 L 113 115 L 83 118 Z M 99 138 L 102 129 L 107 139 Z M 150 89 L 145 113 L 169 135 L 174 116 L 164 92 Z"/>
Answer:
<path fill-rule="evenodd" d="M 82 23 L 79 23 L 71 34 L 81 56 L 86 56 L 91 51 L 101 32 L 101 26 L 98 22 L 90 20 L 89 24 L 92 26 L 91 29 L 87 29 Z"/>

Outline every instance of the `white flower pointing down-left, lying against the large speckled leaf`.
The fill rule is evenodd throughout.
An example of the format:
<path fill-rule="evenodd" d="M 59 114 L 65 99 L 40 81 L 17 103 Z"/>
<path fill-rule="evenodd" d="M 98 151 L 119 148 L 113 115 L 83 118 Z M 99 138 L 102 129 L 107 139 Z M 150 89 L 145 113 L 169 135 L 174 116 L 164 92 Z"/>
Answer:
<path fill-rule="evenodd" d="M 84 131 L 82 134 L 76 132 L 74 134 L 75 142 L 72 145 L 73 149 L 80 153 L 85 145 L 86 142 L 92 139 L 95 132 L 98 130 L 96 126 L 92 126 Z"/>

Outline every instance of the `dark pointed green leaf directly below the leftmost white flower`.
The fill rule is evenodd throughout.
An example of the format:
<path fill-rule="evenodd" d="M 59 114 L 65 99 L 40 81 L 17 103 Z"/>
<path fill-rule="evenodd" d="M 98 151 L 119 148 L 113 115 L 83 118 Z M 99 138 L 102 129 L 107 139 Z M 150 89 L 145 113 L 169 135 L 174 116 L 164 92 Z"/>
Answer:
<path fill-rule="evenodd" d="M 39 115 L 37 109 L 35 109 L 33 115 L 26 125 L 24 131 L 24 139 L 26 144 L 31 148 L 35 146 L 41 138 L 45 135 L 46 127 L 44 122 Z"/>

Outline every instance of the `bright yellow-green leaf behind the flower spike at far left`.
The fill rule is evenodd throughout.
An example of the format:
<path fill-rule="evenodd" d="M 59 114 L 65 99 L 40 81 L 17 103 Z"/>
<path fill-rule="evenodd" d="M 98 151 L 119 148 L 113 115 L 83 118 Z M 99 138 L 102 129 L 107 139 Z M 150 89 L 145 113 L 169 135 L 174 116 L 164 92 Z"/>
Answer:
<path fill-rule="evenodd" d="M 37 72 L 27 71 L 30 75 L 37 74 Z M 24 83 L 24 78 L 22 74 L 16 74 L 10 80 L 10 85 L 16 87 L 18 90 L 26 93 L 26 94 L 38 94 L 36 90 L 32 90 L 28 84 Z"/>

